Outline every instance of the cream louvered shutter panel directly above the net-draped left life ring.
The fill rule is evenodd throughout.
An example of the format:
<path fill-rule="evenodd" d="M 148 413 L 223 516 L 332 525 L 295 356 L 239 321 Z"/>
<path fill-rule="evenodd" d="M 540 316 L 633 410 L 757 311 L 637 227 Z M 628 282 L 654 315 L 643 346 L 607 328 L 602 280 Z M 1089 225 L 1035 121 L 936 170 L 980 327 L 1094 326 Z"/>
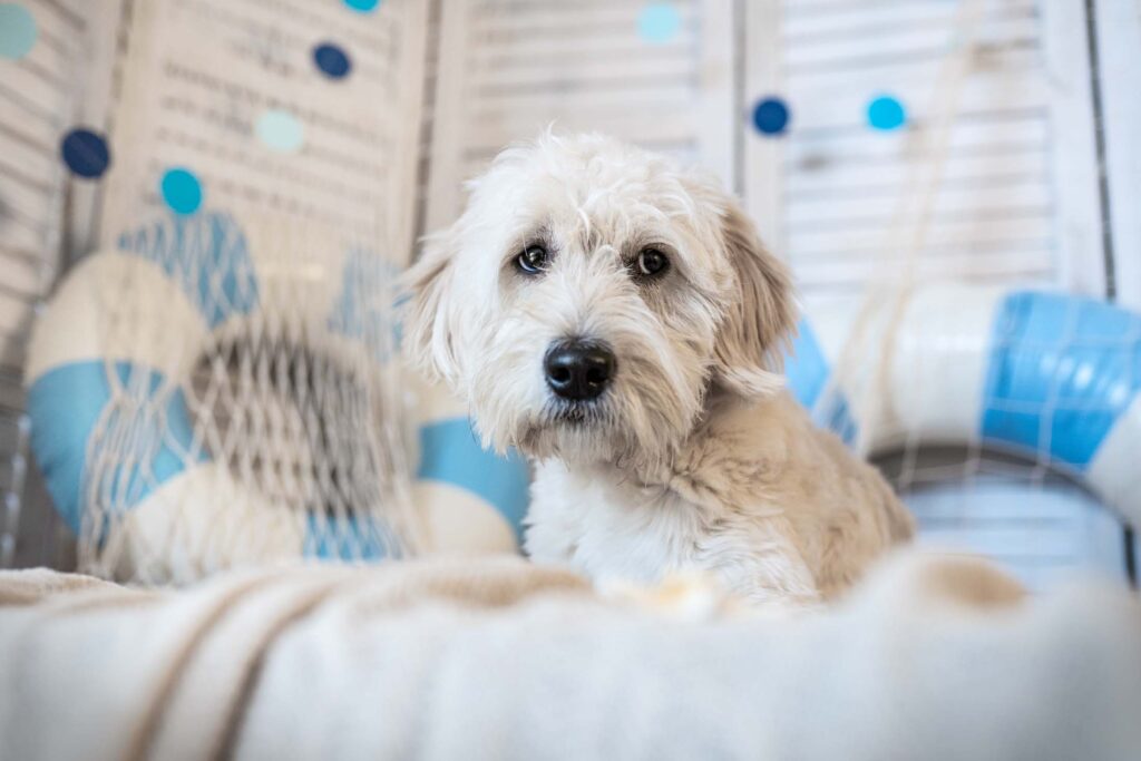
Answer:
<path fill-rule="evenodd" d="M 163 209 L 156 179 L 193 167 L 215 208 L 269 211 L 411 249 L 427 3 L 356 14 L 341 3 L 148 0 L 126 32 L 113 138 L 122 159 L 103 203 L 103 235 Z M 203 46 L 202 40 L 212 40 Z M 313 49 L 335 42 L 350 74 L 330 82 Z M 267 152 L 259 118 L 294 114 L 305 149 Z"/>

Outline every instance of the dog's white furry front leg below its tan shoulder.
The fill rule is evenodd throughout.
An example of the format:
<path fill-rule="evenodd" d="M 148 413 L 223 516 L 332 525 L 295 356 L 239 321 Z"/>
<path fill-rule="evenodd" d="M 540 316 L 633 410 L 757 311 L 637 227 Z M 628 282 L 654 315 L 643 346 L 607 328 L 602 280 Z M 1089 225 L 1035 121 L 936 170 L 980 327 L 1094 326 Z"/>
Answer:
<path fill-rule="evenodd" d="M 704 567 L 751 602 L 798 608 L 820 604 L 816 578 L 784 517 L 727 521 L 698 552 Z"/>

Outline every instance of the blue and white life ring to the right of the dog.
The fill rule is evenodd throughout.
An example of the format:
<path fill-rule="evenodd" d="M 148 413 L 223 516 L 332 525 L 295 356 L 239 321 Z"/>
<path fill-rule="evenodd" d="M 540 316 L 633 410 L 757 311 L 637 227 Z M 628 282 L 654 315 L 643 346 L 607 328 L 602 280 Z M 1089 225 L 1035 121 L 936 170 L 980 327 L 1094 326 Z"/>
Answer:
<path fill-rule="evenodd" d="M 860 369 L 879 369 L 879 404 L 850 404 L 832 379 L 860 305 L 801 323 L 786 374 L 817 421 L 860 451 L 981 443 L 1049 455 L 1141 526 L 1141 315 L 1063 293 L 937 285 L 860 315 Z"/>

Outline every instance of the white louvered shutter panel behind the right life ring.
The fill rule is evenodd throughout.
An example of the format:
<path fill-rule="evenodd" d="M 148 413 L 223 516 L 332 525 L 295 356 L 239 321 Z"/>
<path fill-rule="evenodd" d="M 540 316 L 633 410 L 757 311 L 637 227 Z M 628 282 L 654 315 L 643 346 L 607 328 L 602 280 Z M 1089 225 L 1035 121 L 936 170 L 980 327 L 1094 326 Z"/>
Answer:
<path fill-rule="evenodd" d="M 746 97 L 779 94 L 792 124 L 779 140 L 748 136 L 745 187 L 806 296 L 890 280 L 900 269 L 892 243 L 911 241 L 924 178 L 939 185 L 917 251 L 921 276 L 1103 292 L 1082 2 L 746 7 Z M 968 56 L 961 86 L 940 83 L 957 55 Z M 905 105 L 908 127 L 867 124 L 877 95 Z M 940 152 L 932 132 L 945 107 Z"/>

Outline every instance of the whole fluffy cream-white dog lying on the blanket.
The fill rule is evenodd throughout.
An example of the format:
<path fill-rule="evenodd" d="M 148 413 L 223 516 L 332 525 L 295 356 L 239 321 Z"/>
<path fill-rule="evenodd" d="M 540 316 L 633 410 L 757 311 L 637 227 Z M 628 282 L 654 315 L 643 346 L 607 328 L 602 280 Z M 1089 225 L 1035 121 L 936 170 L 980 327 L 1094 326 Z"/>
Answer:
<path fill-rule="evenodd" d="M 545 135 L 470 191 L 408 274 L 407 343 L 485 446 L 533 459 L 535 560 L 696 567 L 811 604 L 911 535 L 880 475 L 782 390 L 788 273 L 714 183 Z"/>

